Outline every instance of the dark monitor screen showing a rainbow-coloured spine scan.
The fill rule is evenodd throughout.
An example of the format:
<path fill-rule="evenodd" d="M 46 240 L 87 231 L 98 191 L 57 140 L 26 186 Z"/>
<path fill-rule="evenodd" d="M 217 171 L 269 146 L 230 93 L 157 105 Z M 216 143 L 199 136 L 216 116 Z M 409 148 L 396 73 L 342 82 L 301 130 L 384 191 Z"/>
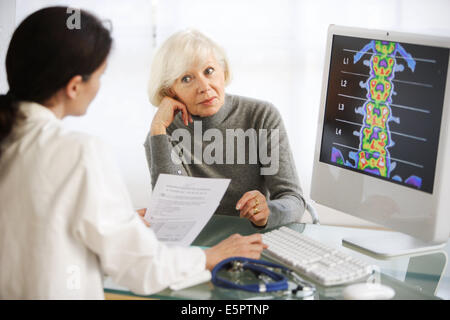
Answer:
<path fill-rule="evenodd" d="M 333 35 L 321 162 L 433 193 L 449 49 Z"/>

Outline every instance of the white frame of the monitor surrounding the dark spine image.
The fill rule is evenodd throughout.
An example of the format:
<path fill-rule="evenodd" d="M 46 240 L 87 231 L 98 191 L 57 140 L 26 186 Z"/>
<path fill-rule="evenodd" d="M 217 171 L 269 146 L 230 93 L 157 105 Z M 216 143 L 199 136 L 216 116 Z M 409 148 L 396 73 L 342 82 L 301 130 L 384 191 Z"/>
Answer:
<path fill-rule="evenodd" d="M 443 182 L 445 182 L 443 175 L 444 173 L 448 175 L 449 171 L 444 170 L 444 158 L 446 150 L 448 151 L 449 149 L 447 123 L 449 119 L 448 104 L 450 102 L 450 55 L 441 118 L 439 148 L 436 158 L 434 188 L 433 193 L 429 194 L 422 190 L 415 190 L 407 186 L 395 184 L 384 179 L 361 174 L 353 170 L 320 161 L 334 35 L 395 41 L 450 49 L 450 38 L 446 37 L 396 31 L 370 30 L 337 25 L 329 26 L 323 69 L 320 109 L 317 122 L 316 145 L 311 181 L 311 199 L 319 204 L 426 241 L 441 241 L 442 239 L 448 239 L 450 219 L 447 216 L 449 215 L 439 215 L 439 212 L 443 210 L 444 204 L 448 207 L 446 202 L 441 199 L 440 195 L 442 194 Z M 346 195 L 344 192 L 347 187 L 357 190 L 358 192 Z M 448 190 L 447 187 L 446 190 Z M 358 193 L 358 195 L 356 195 L 356 193 Z M 345 199 L 342 199 L 343 197 Z M 376 208 L 370 202 L 372 201 L 371 199 L 383 199 L 387 202 L 386 204 L 383 204 L 383 212 L 381 214 L 376 214 Z M 443 224 L 445 224 L 445 226 L 443 226 Z"/>

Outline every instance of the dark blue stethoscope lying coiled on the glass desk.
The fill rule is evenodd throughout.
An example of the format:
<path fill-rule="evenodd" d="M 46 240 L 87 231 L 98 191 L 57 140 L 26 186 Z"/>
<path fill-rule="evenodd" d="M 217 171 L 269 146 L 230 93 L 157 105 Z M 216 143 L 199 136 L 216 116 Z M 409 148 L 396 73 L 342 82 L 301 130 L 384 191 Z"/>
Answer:
<path fill-rule="evenodd" d="M 263 283 L 239 284 L 219 276 L 219 271 L 226 269 L 231 272 L 253 272 Z M 278 271 L 278 272 L 277 272 Z M 289 289 L 288 277 L 295 282 L 296 286 Z M 244 257 L 232 257 L 219 262 L 211 272 L 211 281 L 214 285 L 239 289 L 256 293 L 290 290 L 293 294 L 301 293 L 303 297 L 314 294 L 315 286 L 298 276 L 294 271 L 282 265 L 264 260 L 255 260 Z M 267 281 L 268 279 L 271 281 Z"/>

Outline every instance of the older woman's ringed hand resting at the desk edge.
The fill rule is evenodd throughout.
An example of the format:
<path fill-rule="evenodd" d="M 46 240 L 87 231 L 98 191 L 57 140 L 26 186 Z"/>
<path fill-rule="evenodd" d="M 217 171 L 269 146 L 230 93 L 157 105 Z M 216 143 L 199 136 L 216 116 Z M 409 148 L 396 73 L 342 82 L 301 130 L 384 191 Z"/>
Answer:
<path fill-rule="evenodd" d="M 258 190 L 244 193 L 236 204 L 236 210 L 240 211 L 241 218 L 250 220 L 258 227 L 264 227 L 269 220 L 270 210 L 266 197 Z"/>

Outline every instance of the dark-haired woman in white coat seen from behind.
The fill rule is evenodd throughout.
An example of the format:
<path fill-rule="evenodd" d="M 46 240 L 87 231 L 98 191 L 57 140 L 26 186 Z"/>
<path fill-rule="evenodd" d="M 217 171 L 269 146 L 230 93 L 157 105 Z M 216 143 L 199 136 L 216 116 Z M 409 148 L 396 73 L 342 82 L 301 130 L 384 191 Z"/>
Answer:
<path fill-rule="evenodd" d="M 230 256 L 259 258 L 259 234 L 218 245 L 168 247 L 132 203 L 113 155 L 96 138 L 64 129 L 100 87 L 110 33 L 66 7 L 27 17 L 7 57 L 0 96 L 0 299 L 103 299 L 103 275 L 151 294 Z"/>

